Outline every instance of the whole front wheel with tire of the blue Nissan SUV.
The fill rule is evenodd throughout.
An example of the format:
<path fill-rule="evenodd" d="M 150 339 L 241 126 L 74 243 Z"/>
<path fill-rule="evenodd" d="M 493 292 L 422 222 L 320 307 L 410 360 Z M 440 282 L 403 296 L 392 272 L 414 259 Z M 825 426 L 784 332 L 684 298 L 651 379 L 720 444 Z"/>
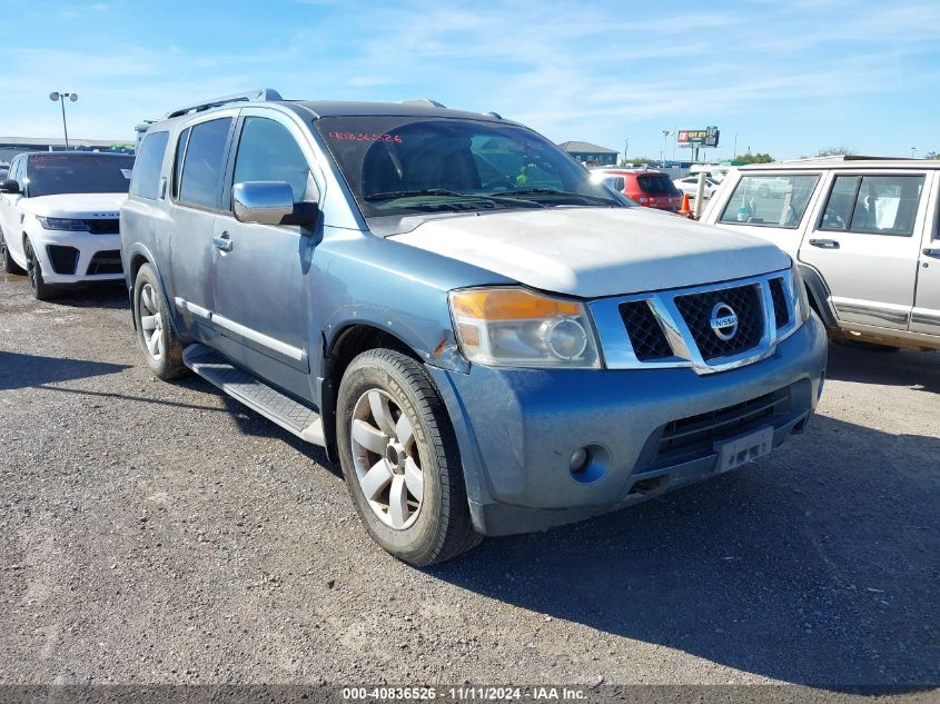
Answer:
<path fill-rule="evenodd" d="M 471 523 L 447 412 L 418 361 L 390 349 L 356 357 L 339 384 L 336 428 L 353 503 L 369 535 L 388 553 L 426 567 L 482 541 Z M 415 469 L 420 496 L 413 492 Z"/>

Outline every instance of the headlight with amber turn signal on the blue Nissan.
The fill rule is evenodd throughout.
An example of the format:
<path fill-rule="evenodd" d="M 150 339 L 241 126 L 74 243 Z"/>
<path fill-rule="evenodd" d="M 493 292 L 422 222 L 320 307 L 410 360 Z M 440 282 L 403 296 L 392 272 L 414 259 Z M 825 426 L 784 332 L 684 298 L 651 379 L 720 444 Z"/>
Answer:
<path fill-rule="evenodd" d="M 597 369 L 601 359 L 584 306 L 524 288 L 451 291 L 451 315 L 464 356 L 509 367 Z"/>

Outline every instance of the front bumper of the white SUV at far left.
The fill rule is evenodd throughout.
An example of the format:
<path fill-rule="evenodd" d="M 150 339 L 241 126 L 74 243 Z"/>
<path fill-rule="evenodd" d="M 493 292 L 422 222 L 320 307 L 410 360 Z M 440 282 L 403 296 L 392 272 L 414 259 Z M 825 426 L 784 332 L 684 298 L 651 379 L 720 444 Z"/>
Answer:
<path fill-rule="evenodd" d="M 120 235 L 37 228 L 29 232 L 29 239 L 39 259 L 42 279 L 47 284 L 123 279 L 120 268 Z"/>

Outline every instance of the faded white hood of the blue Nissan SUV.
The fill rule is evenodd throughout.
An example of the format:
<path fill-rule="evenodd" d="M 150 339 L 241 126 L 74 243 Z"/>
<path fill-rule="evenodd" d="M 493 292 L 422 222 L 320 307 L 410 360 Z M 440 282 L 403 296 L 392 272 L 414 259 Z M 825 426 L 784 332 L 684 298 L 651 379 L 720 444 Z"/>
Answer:
<path fill-rule="evenodd" d="M 645 208 L 557 208 L 427 220 L 395 241 L 533 288 L 597 298 L 790 267 L 774 245 Z"/>

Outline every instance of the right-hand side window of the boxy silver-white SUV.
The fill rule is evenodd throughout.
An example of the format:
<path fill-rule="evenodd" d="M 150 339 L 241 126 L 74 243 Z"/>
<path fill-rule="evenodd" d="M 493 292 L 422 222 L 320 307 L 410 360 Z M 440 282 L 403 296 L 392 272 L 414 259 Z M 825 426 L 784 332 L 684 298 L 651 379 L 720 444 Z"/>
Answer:
<path fill-rule="evenodd" d="M 910 237 L 923 176 L 837 176 L 821 230 Z"/>

